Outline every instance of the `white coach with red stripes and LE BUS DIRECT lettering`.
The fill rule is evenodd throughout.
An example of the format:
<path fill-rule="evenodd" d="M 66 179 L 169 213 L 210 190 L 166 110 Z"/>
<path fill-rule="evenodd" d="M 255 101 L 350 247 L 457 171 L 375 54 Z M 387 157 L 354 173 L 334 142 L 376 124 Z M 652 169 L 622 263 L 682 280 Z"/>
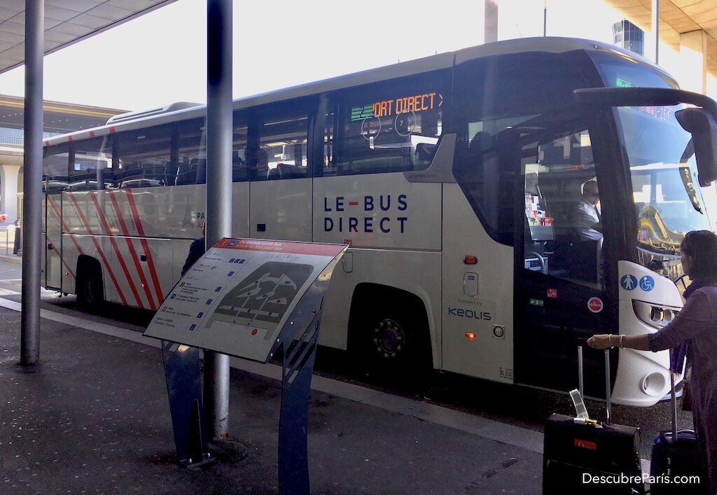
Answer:
<path fill-rule="evenodd" d="M 581 339 L 680 310 L 680 240 L 713 230 L 717 203 L 677 120 L 689 105 L 576 97 L 588 88 L 679 93 L 632 52 L 538 38 L 234 100 L 232 236 L 350 245 L 320 344 L 357 362 L 571 390 Z M 156 310 L 206 221 L 206 106 L 44 145 L 44 286 Z M 613 402 L 669 390 L 668 352 L 611 357 Z M 604 390 L 587 349 L 586 394 Z"/>

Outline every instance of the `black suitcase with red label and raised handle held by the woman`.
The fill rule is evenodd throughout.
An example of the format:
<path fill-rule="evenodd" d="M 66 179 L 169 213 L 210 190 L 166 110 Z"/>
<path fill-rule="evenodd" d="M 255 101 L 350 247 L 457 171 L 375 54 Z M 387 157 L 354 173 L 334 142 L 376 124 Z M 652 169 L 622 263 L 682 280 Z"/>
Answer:
<path fill-rule="evenodd" d="M 582 383 L 581 351 L 578 367 Z M 609 376 L 606 350 L 606 423 L 576 423 L 576 418 L 560 414 L 548 418 L 543 435 L 543 494 L 645 493 L 640 428 L 609 423 Z"/>

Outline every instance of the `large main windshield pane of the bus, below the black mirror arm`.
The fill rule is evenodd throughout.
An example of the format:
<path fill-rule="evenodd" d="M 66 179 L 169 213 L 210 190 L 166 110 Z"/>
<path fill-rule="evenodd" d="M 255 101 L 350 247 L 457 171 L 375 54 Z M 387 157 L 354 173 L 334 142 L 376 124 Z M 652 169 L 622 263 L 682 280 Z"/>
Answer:
<path fill-rule="evenodd" d="M 661 255 L 679 255 L 685 232 L 709 228 L 690 133 L 675 118 L 677 110 L 617 109 L 630 161 L 637 245 Z"/>

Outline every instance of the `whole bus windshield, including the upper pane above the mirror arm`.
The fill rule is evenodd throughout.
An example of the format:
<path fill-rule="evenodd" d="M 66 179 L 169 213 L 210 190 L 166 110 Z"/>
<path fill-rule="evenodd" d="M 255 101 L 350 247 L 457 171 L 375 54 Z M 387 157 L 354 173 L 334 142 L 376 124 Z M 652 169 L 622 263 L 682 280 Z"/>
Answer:
<path fill-rule="evenodd" d="M 638 60 L 592 55 L 607 87 L 677 88 L 668 75 Z M 643 264 L 653 255 L 679 258 L 686 232 L 709 228 L 690 142 L 675 118 L 676 106 L 617 108 L 637 209 L 635 240 Z M 677 275 L 675 273 L 669 275 Z"/>

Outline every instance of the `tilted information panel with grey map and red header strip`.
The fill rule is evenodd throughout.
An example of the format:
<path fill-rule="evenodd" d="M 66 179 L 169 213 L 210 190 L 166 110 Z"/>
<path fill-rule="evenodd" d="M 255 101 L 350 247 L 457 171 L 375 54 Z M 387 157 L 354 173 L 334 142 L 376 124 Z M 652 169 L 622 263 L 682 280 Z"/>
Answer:
<path fill-rule="evenodd" d="M 144 334 L 264 362 L 301 297 L 331 278 L 346 248 L 222 239 L 172 288 Z"/>

